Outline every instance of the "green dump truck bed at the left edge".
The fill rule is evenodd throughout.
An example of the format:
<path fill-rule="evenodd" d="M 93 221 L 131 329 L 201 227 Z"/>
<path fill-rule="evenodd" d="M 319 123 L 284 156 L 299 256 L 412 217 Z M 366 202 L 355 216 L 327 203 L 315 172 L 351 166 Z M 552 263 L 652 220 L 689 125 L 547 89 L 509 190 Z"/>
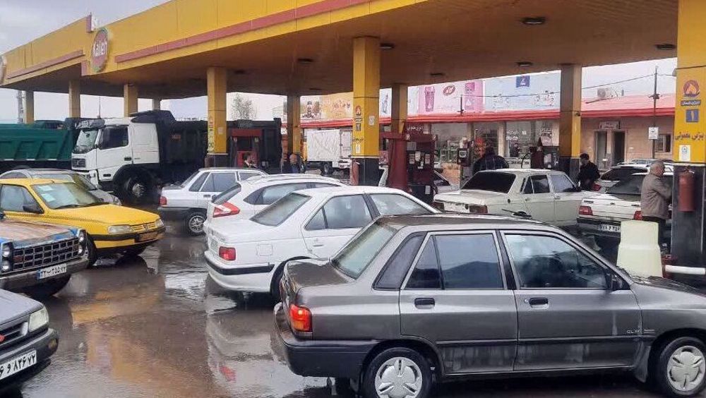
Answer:
<path fill-rule="evenodd" d="M 78 119 L 0 124 L 0 173 L 13 169 L 71 169 Z"/>

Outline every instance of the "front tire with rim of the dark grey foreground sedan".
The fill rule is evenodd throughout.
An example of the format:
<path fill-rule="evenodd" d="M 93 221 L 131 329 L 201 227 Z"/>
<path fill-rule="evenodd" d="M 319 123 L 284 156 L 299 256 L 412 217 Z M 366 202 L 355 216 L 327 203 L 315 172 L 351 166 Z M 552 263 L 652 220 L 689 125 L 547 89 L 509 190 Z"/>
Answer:
<path fill-rule="evenodd" d="M 694 397 L 706 387 L 706 346 L 695 337 L 664 344 L 652 367 L 652 382 L 667 397 Z"/>

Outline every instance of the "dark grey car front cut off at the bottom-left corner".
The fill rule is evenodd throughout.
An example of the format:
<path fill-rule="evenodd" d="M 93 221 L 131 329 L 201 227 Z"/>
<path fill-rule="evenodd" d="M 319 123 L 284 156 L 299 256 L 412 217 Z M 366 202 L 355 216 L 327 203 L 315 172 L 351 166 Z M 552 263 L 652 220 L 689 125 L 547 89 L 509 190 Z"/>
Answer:
<path fill-rule="evenodd" d="M 5 397 L 49 366 L 59 335 L 49 328 L 42 303 L 5 290 L 0 301 L 0 396 Z"/>

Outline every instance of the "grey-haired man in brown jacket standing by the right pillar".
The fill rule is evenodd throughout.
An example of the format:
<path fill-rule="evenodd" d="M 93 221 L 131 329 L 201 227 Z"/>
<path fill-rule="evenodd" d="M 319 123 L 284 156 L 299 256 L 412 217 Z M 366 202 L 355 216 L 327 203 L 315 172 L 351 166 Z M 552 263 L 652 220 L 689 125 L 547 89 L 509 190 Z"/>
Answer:
<path fill-rule="evenodd" d="M 664 163 L 657 160 L 650 165 L 650 173 L 642 180 L 640 190 L 640 211 L 642 221 L 657 223 L 659 248 L 664 243 L 664 227 L 669 219 L 671 188 L 664 182 Z"/>

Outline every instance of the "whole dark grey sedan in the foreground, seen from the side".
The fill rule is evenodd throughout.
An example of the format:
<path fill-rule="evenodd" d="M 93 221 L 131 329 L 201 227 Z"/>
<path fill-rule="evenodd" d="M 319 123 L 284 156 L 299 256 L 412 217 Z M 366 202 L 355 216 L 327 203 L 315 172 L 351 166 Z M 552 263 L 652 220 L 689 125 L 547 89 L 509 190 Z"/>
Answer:
<path fill-rule="evenodd" d="M 532 220 L 381 217 L 330 260 L 288 263 L 280 290 L 289 368 L 364 397 L 469 375 L 631 371 L 671 397 L 706 382 L 704 294 Z"/>

